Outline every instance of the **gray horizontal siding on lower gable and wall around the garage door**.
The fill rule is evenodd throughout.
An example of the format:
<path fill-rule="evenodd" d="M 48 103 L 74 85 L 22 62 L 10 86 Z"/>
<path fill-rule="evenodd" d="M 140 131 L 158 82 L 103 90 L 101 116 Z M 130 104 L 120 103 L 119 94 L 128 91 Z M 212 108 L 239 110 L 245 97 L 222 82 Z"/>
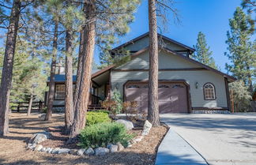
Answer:
<path fill-rule="evenodd" d="M 148 69 L 149 68 L 149 52 L 145 52 L 137 58 L 117 69 Z M 159 58 L 160 69 L 174 68 L 200 68 L 201 66 L 188 62 L 183 58 L 166 52 L 160 52 Z M 130 80 L 148 80 L 147 71 L 118 71 L 113 69 L 111 72 L 111 86 L 119 87 L 121 95 L 123 95 L 123 84 Z M 190 95 L 192 107 L 228 107 L 224 77 L 209 70 L 194 71 L 161 71 L 159 72 L 160 80 L 186 80 L 190 84 Z M 199 87 L 195 88 L 198 82 Z M 216 100 L 205 100 L 203 94 L 203 85 L 207 82 L 213 83 L 216 88 Z M 118 84 L 118 85 L 116 85 Z"/>

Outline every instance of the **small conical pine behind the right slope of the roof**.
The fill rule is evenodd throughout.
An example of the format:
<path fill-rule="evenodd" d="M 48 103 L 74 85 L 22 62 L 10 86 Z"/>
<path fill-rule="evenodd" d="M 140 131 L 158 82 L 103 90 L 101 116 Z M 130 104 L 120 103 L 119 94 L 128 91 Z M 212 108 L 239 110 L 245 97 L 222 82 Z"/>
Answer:
<path fill-rule="evenodd" d="M 195 52 L 194 54 L 192 54 L 192 58 L 207 66 L 217 69 L 214 59 L 212 57 L 213 51 L 210 51 L 209 46 L 206 43 L 204 33 L 198 33 L 197 41 L 197 44 L 194 46 Z"/>

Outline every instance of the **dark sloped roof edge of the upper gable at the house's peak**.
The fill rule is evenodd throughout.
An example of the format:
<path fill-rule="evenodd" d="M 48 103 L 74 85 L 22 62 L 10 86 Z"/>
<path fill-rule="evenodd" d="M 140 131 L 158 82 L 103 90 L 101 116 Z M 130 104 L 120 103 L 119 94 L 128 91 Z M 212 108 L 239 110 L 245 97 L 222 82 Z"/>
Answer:
<path fill-rule="evenodd" d="M 125 47 L 125 46 L 127 46 L 127 45 L 129 45 L 129 44 L 131 44 L 131 43 L 136 42 L 136 41 L 139 40 L 139 39 L 144 38 L 145 36 L 149 36 L 149 32 L 146 32 L 145 34 L 143 34 L 143 35 L 141 35 L 141 36 L 138 36 L 138 37 L 136 37 L 136 38 L 134 38 L 134 39 L 131 39 L 130 41 L 128 41 L 128 42 L 126 42 L 126 43 L 122 43 L 121 45 L 119 45 L 118 47 L 115 47 L 115 48 L 112 49 L 112 50 L 114 51 L 114 50 L 119 49 L 119 48 L 121 48 L 121 47 Z M 188 50 L 190 50 L 190 51 L 192 51 L 192 52 L 195 51 L 194 48 L 189 47 L 189 46 L 186 46 L 186 45 L 184 45 L 183 43 L 179 43 L 178 41 L 176 41 L 176 40 L 174 40 L 174 39 L 168 38 L 167 36 L 163 36 L 163 35 L 161 35 L 161 34 L 159 34 L 159 33 L 157 33 L 157 36 L 158 36 L 158 37 L 162 37 L 163 39 L 166 39 L 166 40 L 170 41 L 171 43 L 175 43 L 175 44 L 179 45 L 180 47 L 184 47 L 184 48 L 186 48 L 186 49 L 188 49 Z"/>

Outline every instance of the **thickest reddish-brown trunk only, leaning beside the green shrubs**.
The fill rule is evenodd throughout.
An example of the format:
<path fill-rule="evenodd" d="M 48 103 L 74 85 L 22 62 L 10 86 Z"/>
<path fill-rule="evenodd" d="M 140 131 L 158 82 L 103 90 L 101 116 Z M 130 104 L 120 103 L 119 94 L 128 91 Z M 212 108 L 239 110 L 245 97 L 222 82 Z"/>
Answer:
<path fill-rule="evenodd" d="M 73 125 L 70 132 L 70 141 L 77 137 L 81 129 L 85 127 L 85 116 L 88 108 L 89 89 L 91 84 L 92 58 L 95 47 L 96 28 L 96 2 L 95 0 L 85 0 L 85 18 L 87 24 L 83 28 L 85 32 L 85 45 L 82 51 L 81 80 L 77 84 L 78 98 L 74 111 Z M 82 40 L 82 39 L 81 39 Z"/>

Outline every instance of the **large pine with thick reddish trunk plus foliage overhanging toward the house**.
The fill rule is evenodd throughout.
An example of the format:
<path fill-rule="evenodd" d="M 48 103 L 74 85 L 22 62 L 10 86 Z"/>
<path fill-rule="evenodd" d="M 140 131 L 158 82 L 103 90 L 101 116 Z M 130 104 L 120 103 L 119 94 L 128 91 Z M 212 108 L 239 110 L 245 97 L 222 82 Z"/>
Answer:
<path fill-rule="evenodd" d="M 128 24 L 134 19 L 133 13 L 138 3 L 138 0 L 83 2 L 85 23 L 81 28 L 76 91 L 73 99 L 74 118 L 69 142 L 85 127 L 94 45 L 97 43 L 104 47 L 104 43 L 109 42 L 104 36 L 116 37 L 128 32 Z"/>

